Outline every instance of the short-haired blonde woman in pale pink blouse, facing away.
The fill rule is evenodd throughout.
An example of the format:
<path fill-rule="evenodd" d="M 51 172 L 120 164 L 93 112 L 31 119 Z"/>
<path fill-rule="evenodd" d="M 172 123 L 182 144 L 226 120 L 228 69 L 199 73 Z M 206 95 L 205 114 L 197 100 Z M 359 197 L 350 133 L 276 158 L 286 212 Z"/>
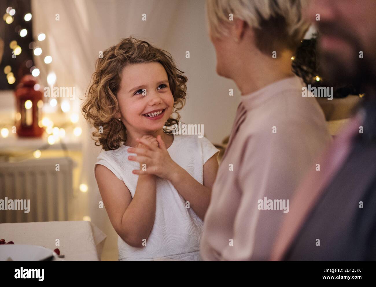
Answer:
<path fill-rule="evenodd" d="M 305 35 L 303 0 L 207 0 L 217 73 L 241 92 L 212 189 L 204 260 L 267 260 L 290 198 L 331 141 L 291 57 Z M 319 172 L 319 171 L 318 171 Z M 312 243 L 313 244 L 313 243 Z"/>

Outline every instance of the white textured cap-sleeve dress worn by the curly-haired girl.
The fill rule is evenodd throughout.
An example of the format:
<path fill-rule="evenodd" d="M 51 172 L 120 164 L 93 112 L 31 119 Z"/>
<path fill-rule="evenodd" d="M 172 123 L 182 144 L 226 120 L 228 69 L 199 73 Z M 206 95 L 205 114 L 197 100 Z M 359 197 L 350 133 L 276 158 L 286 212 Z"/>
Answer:
<path fill-rule="evenodd" d="M 94 165 L 102 164 L 118 179 L 122 180 L 135 195 L 139 163 L 128 160 L 128 146 L 103 151 Z M 203 184 L 203 165 L 219 150 L 205 137 L 198 135 L 174 135 L 173 143 L 167 149 L 178 165 L 194 179 Z M 136 248 L 118 237 L 119 261 L 182 260 L 201 261 L 199 246 L 203 221 L 192 208 L 186 208 L 185 200 L 170 181 L 157 178 L 155 221 L 146 241 L 146 246 Z"/>

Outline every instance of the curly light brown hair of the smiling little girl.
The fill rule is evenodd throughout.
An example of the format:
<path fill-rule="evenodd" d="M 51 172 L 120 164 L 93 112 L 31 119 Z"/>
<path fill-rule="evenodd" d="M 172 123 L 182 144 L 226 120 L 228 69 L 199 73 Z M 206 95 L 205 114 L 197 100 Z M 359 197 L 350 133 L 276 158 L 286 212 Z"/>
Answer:
<path fill-rule="evenodd" d="M 164 67 L 174 98 L 172 114 L 176 114 L 176 117 L 173 118 L 171 114 L 164 126 L 179 123 L 178 111 L 185 104 L 187 77 L 176 68 L 170 53 L 131 36 L 105 50 L 103 57 L 97 59 L 96 71 L 92 74 L 91 85 L 85 94 L 82 113 L 97 129 L 92 133 L 96 146 L 102 145 L 104 150 L 114 150 L 126 141 L 126 127 L 116 119 L 116 114 L 120 111 L 116 95 L 120 88 L 121 72 L 127 65 L 150 62 L 161 63 Z M 172 131 L 165 127 L 164 132 L 171 134 Z"/>

